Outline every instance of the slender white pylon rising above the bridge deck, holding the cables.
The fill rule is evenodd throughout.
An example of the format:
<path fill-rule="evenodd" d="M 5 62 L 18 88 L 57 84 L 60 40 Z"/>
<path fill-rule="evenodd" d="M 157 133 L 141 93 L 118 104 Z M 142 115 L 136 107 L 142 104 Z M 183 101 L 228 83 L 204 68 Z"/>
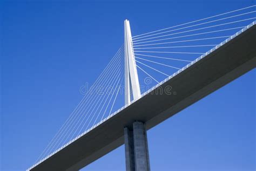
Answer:
<path fill-rule="evenodd" d="M 129 20 L 124 21 L 124 84 L 125 84 L 125 105 L 131 102 L 131 95 L 133 100 L 138 100 L 141 96 L 139 79 L 134 59 L 134 52 L 132 46 L 132 34 Z"/>

